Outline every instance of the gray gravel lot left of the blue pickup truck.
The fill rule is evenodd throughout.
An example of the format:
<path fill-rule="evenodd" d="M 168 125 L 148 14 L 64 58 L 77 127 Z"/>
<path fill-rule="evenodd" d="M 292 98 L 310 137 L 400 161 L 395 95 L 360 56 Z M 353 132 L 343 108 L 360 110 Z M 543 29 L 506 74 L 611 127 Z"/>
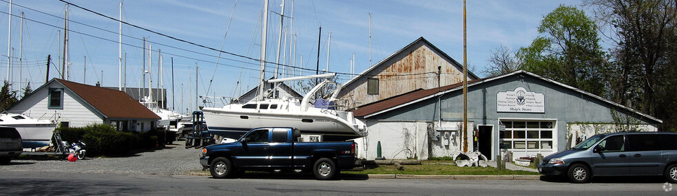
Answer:
<path fill-rule="evenodd" d="M 201 153 L 202 149 L 185 149 L 183 142 L 178 141 L 164 149 L 143 151 L 127 157 L 86 157 L 76 162 L 29 157 L 0 165 L 0 171 L 187 175 L 202 170 L 199 162 Z"/>

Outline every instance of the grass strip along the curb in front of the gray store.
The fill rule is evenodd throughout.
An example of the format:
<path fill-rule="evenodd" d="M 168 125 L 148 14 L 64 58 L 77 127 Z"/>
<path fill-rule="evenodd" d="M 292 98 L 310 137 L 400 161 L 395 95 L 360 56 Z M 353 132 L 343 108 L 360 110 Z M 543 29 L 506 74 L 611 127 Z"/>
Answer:
<path fill-rule="evenodd" d="M 424 160 L 420 165 L 404 165 L 399 171 L 394 165 L 367 165 L 364 171 L 341 171 L 352 174 L 402 174 L 402 175 L 540 175 L 530 171 L 498 170 L 487 167 L 459 167 L 448 161 Z"/>

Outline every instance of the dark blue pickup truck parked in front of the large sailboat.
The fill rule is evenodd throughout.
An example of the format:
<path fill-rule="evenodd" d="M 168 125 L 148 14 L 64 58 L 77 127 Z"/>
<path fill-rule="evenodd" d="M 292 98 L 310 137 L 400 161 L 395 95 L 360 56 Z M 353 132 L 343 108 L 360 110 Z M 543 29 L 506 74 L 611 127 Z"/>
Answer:
<path fill-rule="evenodd" d="M 293 128 L 252 129 L 236 142 L 205 146 L 200 164 L 214 178 L 300 169 L 313 171 L 317 179 L 331 179 L 341 169 L 362 165 L 355 156 L 355 142 L 299 142 L 299 138 L 300 131 Z"/>

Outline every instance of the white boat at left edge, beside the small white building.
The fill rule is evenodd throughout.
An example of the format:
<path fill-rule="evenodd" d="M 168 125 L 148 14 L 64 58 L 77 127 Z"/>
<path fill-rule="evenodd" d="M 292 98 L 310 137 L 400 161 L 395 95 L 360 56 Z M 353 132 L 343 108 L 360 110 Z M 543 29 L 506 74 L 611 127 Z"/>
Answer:
<path fill-rule="evenodd" d="M 55 120 L 38 120 L 19 113 L 0 113 L 0 126 L 14 127 L 21 135 L 24 149 L 36 149 L 50 145 Z"/>

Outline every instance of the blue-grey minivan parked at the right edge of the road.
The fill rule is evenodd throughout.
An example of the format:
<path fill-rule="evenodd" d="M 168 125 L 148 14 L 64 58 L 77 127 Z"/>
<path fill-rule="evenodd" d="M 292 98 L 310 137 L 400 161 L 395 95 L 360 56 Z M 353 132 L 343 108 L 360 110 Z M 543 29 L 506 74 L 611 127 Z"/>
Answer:
<path fill-rule="evenodd" d="M 663 175 L 677 183 L 677 133 L 594 135 L 572 149 L 544 157 L 538 167 L 543 175 L 565 175 L 574 183 L 617 175 Z"/>

